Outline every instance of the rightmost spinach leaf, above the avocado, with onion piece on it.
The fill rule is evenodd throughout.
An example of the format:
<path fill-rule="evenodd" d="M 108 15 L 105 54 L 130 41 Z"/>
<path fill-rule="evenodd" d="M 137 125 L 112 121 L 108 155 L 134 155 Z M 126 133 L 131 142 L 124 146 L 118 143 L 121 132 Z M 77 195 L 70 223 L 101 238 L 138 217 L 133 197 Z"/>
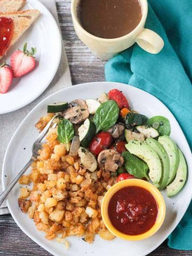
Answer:
<path fill-rule="evenodd" d="M 147 124 L 150 125 L 150 126 L 153 126 L 154 124 L 157 125 L 158 127 L 156 128 L 156 130 L 158 131 L 158 133 L 160 135 L 167 135 L 167 136 L 169 136 L 170 133 L 171 133 L 170 122 L 164 116 L 154 116 L 154 117 L 151 117 L 147 121 Z"/>

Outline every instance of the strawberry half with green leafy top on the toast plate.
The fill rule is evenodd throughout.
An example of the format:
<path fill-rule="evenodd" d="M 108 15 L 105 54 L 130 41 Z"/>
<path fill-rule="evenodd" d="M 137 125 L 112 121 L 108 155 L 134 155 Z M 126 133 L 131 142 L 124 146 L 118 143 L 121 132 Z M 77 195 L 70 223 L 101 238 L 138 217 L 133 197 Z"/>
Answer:
<path fill-rule="evenodd" d="M 13 77 L 21 77 L 29 73 L 35 68 L 36 49 L 31 48 L 31 52 L 27 50 L 27 43 L 23 47 L 23 51 L 16 51 L 11 55 L 11 68 Z"/>

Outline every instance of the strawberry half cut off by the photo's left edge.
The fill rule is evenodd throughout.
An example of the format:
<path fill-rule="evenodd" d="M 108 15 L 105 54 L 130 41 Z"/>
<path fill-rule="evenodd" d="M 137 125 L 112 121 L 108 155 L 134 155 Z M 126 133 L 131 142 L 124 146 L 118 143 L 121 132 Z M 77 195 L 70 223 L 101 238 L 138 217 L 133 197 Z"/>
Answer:
<path fill-rule="evenodd" d="M 0 93 L 6 93 L 12 84 L 13 73 L 10 66 L 4 62 L 0 66 Z"/>

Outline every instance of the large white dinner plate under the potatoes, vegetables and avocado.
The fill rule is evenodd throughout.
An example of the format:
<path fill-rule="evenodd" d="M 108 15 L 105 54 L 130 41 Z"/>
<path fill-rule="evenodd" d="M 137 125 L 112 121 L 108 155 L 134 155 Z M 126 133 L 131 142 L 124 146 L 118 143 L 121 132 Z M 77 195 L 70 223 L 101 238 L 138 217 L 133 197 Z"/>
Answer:
<path fill-rule="evenodd" d="M 115 238 L 113 241 L 105 241 L 97 235 L 95 236 L 93 244 L 88 244 L 79 237 L 68 237 L 67 239 L 71 244 L 68 251 L 65 251 L 65 246 L 59 244 L 57 241 L 47 241 L 44 238 L 43 232 L 37 231 L 33 220 L 29 219 L 27 214 L 21 212 L 17 201 L 20 185 L 15 186 L 7 199 L 7 205 L 12 217 L 15 222 L 17 222 L 18 226 L 31 239 L 55 256 L 147 255 L 151 251 L 155 250 L 156 247 L 158 247 L 167 238 L 167 236 L 170 235 L 173 229 L 178 225 L 190 203 L 192 195 L 192 157 L 187 140 L 183 135 L 178 122 L 169 109 L 149 93 L 130 85 L 110 82 L 85 83 L 62 89 L 44 99 L 33 110 L 31 110 L 14 133 L 6 150 L 3 162 L 3 188 L 5 189 L 8 183 L 15 177 L 15 175 L 17 175 L 30 158 L 31 146 L 38 135 L 38 131 L 34 125 L 38 121 L 39 117 L 46 114 L 47 104 L 62 101 L 70 102 L 71 100 L 78 98 L 97 98 L 101 93 L 108 92 L 113 88 L 122 90 L 129 100 L 131 107 L 139 111 L 141 114 L 148 117 L 162 115 L 170 120 L 171 138 L 177 142 L 177 145 L 186 157 L 189 170 L 188 181 L 186 186 L 177 196 L 168 198 L 166 196 L 166 191 L 163 191 L 162 194 L 166 203 L 166 217 L 163 226 L 154 236 L 143 241 L 129 242 L 118 238 Z"/>

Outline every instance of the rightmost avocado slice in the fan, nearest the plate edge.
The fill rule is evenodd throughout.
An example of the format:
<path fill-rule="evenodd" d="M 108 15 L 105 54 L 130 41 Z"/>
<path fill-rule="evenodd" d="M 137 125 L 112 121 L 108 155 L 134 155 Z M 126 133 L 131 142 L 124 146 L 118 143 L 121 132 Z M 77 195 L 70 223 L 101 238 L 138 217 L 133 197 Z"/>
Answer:
<path fill-rule="evenodd" d="M 179 150 L 179 149 L 178 149 Z M 187 180 L 187 164 L 181 151 L 179 150 L 179 166 L 173 182 L 167 186 L 167 196 L 175 196 L 185 185 Z"/>

